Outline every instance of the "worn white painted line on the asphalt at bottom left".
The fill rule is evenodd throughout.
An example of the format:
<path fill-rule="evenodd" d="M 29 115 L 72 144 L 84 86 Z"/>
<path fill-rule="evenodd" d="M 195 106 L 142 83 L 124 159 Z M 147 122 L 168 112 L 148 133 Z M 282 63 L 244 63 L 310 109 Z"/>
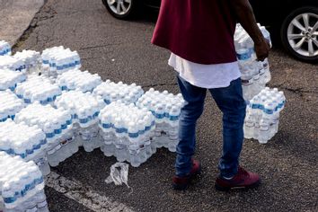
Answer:
<path fill-rule="evenodd" d="M 69 199 L 74 199 L 76 202 L 98 212 L 133 212 L 119 201 L 114 201 L 110 198 L 104 197 L 79 181 L 70 181 L 65 177 L 59 175 L 57 172 L 50 172 L 46 179 L 46 185 L 57 190 Z"/>

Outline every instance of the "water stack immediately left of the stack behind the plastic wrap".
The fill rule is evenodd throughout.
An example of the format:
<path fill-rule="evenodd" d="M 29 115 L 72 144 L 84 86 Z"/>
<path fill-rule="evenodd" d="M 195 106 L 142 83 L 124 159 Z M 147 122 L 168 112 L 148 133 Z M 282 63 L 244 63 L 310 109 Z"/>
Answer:
<path fill-rule="evenodd" d="M 75 138 L 79 139 L 80 145 L 83 144 L 86 152 L 102 146 L 98 115 L 105 103 L 101 98 L 93 97 L 92 93 L 70 91 L 58 96 L 55 104 L 72 114 Z"/>

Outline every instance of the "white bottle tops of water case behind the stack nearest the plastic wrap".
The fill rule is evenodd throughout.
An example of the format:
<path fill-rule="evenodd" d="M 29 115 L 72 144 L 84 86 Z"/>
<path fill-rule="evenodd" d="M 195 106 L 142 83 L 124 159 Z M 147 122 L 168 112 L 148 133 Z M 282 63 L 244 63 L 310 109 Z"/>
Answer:
<path fill-rule="evenodd" d="M 140 85 L 123 84 L 122 82 L 115 84 L 110 80 L 106 80 L 106 82 L 98 85 L 94 89 L 93 94 L 101 96 L 107 104 L 119 100 L 126 104 L 130 104 L 137 102 L 139 97 L 144 94 L 144 90 Z"/>

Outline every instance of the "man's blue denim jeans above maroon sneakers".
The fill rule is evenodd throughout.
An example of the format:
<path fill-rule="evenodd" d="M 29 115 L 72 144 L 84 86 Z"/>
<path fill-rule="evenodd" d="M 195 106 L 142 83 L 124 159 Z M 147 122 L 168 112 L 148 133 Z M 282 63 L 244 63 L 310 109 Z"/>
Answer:
<path fill-rule="evenodd" d="M 196 122 L 203 112 L 207 89 L 194 86 L 180 76 L 178 84 L 187 104 L 181 109 L 179 145 L 177 146 L 176 175 L 190 173 L 196 146 Z M 241 79 L 231 82 L 228 87 L 208 89 L 217 107 L 223 113 L 223 151 L 218 163 L 220 175 L 232 177 L 239 165 L 243 146 L 243 121 L 246 104 L 243 100 Z"/>

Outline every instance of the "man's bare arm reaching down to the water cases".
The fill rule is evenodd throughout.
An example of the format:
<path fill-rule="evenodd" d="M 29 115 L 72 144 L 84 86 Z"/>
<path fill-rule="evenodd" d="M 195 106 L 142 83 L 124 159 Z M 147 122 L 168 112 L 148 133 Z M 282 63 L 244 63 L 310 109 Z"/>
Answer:
<path fill-rule="evenodd" d="M 232 4 L 238 22 L 254 41 L 257 59 L 263 61 L 269 56 L 269 41 L 265 40 L 257 25 L 250 2 L 248 0 L 229 0 L 228 2 Z"/>

